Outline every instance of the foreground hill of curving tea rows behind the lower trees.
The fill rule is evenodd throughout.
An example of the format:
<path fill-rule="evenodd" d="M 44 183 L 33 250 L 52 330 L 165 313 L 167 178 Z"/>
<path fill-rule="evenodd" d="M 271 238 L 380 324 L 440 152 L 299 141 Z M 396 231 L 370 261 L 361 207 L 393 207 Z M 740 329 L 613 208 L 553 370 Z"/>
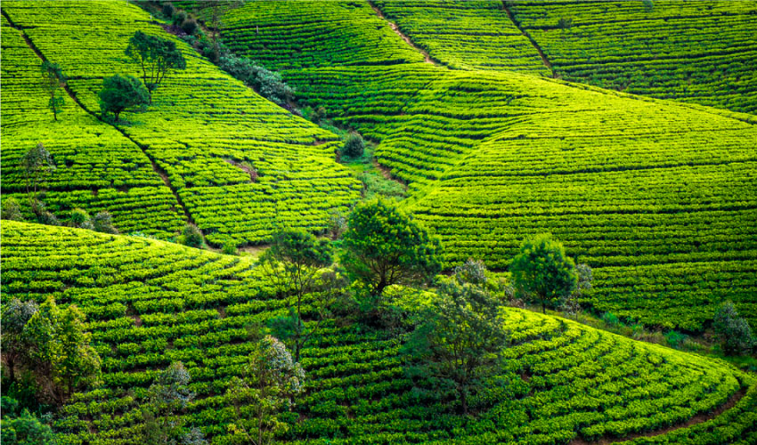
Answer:
<path fill-rule="evenodd" d="M 65 443 L 130 444 L 156 371 L 182 360 L 198 393 L 186 417 L 226 443 L 226 384 L 252 344 L 245 328 L 284 312 L 245 258 L 160 241 L 4 222 L 2 298 L 77 303 L 103 358 L 102 389 L 62 409 Z M 306 309 L 305 312 L 309 312 Z M 306 392 L 282 441 L 567 443 L 655 432 L 745 396 L 710 422 L 657 438 L 716 444 L 755 434 L 754 379 L 720 362 L 533 312 L 503 312 L 512 345 L 501 376 L 450 411 L 445 394 L 403 373 L 403 337 L 327 324 L 303 354 Z M 736 397 L 738 398 L 739 395 Z"/>

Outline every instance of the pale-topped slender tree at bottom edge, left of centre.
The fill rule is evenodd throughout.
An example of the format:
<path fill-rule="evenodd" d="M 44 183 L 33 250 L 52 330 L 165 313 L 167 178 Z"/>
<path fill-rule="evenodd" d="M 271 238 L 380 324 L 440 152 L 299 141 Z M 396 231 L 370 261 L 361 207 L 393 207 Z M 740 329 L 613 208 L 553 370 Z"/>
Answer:
<path fill-rule="evenodd" d="M 249 355 L 244 375 L 232 378 L 226 390 L 234 407 L 235 420 L 228 426 L 232 443 L 273 443 L 274 435 L 287 429 L 278 414 L 291 409 L 304 381 L 305 371 L 284 344 L 273 336 L 261 339 Z"/>

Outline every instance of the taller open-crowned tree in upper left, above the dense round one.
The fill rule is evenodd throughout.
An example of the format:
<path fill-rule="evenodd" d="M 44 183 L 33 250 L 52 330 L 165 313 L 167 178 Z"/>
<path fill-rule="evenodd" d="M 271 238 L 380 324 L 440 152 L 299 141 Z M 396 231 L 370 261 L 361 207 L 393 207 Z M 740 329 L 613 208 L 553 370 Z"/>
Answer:
<path fill-rule="evenodd" d="M 142 31 L 136 31 L 129 38 L 126 55 L 142 68 L 142 82 L 147 87 L 149 103 L 152 103 L 152 92 L 172 69 L 187 68 L 187 62 L 175 42 Z"/>

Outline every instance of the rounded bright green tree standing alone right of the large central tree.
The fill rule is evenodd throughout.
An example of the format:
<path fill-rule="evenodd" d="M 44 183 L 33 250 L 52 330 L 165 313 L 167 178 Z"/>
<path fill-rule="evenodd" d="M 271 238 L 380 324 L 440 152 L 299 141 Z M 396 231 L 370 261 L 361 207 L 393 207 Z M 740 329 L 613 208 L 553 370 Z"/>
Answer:
<path fill-rule="evenodd" d="M 549 234 L 526 239 L 510 263 L 513 281 L 526 301 L 558 308 L 576 288 L 578 276 L 565 247 Z"/>

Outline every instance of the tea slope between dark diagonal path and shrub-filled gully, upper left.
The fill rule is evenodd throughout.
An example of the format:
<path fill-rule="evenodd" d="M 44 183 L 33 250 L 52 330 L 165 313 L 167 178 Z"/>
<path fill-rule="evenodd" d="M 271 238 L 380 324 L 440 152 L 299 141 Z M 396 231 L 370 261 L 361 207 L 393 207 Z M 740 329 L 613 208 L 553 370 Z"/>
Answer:
<path fill-rule="evenodd" d="M 71 77 L 98 112 L 102 78 L 140 74 L 124 50 L 137 30 L 168 37 L 124 2 L 3 2 L 32 44 Z M 146 112 L 119 127 L 167 174 L 191 219 L 216 244 L 256 243 L 275 225 L 322 230 L 360 183 L 334 161 L 337 136 L 265 101 L 180 43 L 187 69 L 172 73 Z M 325 142 L 325 143 L 322 143 Z M 256 179 L 234 164 L 248 162 Z"/>

